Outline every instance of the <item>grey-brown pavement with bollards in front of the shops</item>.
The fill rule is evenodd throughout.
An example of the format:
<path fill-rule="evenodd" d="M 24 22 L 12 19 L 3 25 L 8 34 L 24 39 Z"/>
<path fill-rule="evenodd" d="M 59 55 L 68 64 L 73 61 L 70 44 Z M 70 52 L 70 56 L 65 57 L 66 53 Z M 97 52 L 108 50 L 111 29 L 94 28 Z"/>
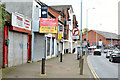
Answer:
<path fill-rule="evenodd" d="M 83 75 L 80 75 L 79 60 L 76 54 L 65 54 L 63 62 L 59 57 L 46 60 L 46 74 L 41 75 L 41 61 L 5 68 L 3 78 L 92 78 L 84 56 Z"/>

